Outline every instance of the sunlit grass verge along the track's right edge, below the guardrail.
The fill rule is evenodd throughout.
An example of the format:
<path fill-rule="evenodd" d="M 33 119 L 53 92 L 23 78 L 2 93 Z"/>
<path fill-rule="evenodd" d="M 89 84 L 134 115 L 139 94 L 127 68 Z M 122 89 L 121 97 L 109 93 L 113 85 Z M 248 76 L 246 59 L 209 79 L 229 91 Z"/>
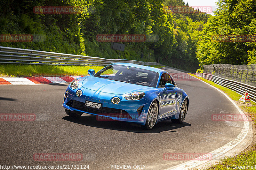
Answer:
<path fill-rule="evenodd" d="M 189 75 L 199 78 L 199 79 L 203 80 L 204 82 L 206 82 L 214 87 L 219 88 L 220 90 L 225 92 L 232 100 L 235 100 L 238 107 L 240 107 L 240 109 L 243 110 L 243 112 L 249 114 L 249 116 L 251 117 L 251 120 L 252 120 L 252 124 L 255 128 L 256 106 L 255 106 L 254 102 L 251 101 L 252 105 L 238 103 L 237 101 L 238 101 L 238 99 L 240 99 L 242 97 L 242 95 L 240 95 L 226 87 L 217 85 L 217 84 L 213 83 L 212 81 L 209 81 L 205 78 L 197 77 L 194 74 L 189 74 Z M 216 165 L 213 165 L 209 169 L 211 169 L 211 170 L 256 169 L 255 160 L 256 160 L 256 145 L 252 144 L 248 149 L 246 149 L 245 151 L 243 151 L 241 153 L 236 154 L 233 157 L 226 157 L 224 159 L 221 159 L 220 162 L 218 162 Z"/>

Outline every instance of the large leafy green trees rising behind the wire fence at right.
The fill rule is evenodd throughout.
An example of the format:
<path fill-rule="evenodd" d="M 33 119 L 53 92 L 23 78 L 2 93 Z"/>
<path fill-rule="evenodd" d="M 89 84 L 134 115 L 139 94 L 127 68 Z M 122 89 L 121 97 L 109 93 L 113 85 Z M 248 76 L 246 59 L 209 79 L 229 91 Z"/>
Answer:
<path fill-rule="evenodd" d="M 200 65 L 204 64 L 247 64 L 255 61 L 254 42 L 215 41 L 221 35 L 256 34 L 256 3 L 254 0 L 219 0 L 215 16 L 204 26 L 204 36 L 196 51 Z M 236 37 L 236 36 L 234 36 Z"/>

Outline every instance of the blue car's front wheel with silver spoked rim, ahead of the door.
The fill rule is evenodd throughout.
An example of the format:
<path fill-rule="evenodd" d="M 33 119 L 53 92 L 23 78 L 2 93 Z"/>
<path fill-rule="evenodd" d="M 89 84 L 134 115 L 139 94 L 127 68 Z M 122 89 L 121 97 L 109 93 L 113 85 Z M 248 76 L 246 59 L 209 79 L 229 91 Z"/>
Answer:
<path fill-rule="evenodd" d="M 147 116 L 147 121 L 145 125 L 146 129 L 150 130 L 154 128 L 156 124 L 157 116 L 158 116 L 158 104 L 156 101 L 154 101 L 148 110 L 148 116 Z"/>

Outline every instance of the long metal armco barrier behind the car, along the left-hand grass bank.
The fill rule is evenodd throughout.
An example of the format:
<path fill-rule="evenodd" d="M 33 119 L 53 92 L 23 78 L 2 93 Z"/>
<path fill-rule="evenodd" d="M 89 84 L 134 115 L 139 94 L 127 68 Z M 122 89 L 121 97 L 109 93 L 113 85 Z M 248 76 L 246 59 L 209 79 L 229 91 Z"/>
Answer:
<path fill-rule="evenodd" d="M 140 65 L 162 65 L 156 62 L 107 59 L 84 55 L 53 53 L 31 49 L 10 48 L 0 46 L 0 63 L 106 66 L 111 63 L 117 62 L 134 63 Z"/>

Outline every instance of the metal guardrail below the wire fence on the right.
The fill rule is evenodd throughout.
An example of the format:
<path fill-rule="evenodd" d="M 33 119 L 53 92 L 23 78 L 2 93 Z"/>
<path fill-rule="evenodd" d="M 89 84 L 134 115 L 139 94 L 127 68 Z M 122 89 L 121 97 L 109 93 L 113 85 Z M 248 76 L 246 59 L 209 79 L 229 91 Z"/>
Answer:
<path fill-rule="evenodd" d="M 210 80 L 218 85 L 227 87 L 239 94 L 244 94 L 246 91 L 249 94 L 249 97 L 251 100 L 256 102 L 256 87 L 252 85 L 247 85 L 244 83 L 240 83 L 234 80 L 228 80 L 225 78 L 220 78 L 218 76 L 214 76 L 211 74 L 206 74 L 206 73 L 196 73 L 196 76 L 205 78 L 207 80 Z"/>

